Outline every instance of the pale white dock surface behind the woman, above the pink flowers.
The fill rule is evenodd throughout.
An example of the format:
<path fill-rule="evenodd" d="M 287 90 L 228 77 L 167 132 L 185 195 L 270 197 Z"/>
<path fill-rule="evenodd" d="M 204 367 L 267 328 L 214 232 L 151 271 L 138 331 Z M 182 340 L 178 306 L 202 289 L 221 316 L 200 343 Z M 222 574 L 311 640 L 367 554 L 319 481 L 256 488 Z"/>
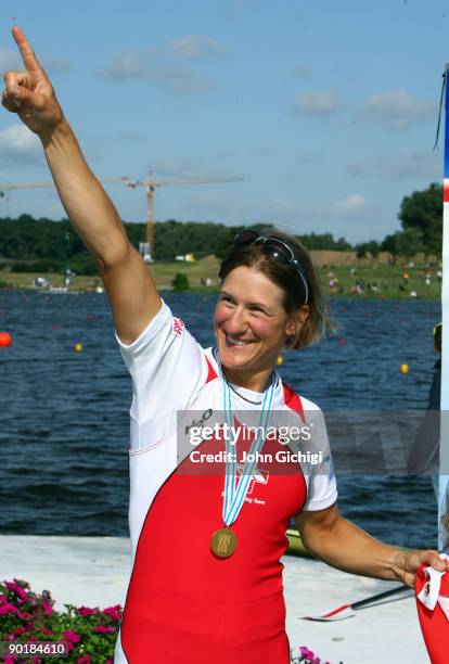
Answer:
<path fill-rule="evenodd" d="M 55 608 L 124 604 L 130 573 L 130 545 L 121 537 L 0 535 L 1 580 L 18 578 L 31 589 L 48 589 Z M 428 662 L 413 593 L 357 612 L 355 617 L 306 622 L 398 584 L 354 576 L 316 560 L 284 556 L 286 630 L 297 654 L 300 646 L 332 664 Z"/>

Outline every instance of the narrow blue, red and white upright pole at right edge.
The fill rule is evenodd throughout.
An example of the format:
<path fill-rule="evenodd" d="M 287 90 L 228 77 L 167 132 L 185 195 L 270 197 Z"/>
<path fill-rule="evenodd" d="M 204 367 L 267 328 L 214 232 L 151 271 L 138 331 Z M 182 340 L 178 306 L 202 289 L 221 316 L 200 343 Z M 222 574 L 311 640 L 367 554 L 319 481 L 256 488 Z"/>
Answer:
<path fill-rule="evenodd" d="M 442 183 L 442 353 L 438 481 L 438 549 L 449 549 L 449 64 L 445 66 L 445 165 Z"/>

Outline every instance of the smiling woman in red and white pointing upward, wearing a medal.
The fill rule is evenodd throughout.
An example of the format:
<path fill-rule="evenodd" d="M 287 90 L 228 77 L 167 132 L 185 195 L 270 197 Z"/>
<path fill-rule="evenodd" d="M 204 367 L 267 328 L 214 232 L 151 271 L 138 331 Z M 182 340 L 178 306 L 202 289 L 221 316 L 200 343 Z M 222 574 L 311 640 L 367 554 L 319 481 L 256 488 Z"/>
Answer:
<path fill-rule="evenodd" d="M 325 324 L 305 250 L 278 232 L 239 235 L 220 269 L 217 347 L 203 349 L 162 302 L 25 35 L 14 27 L 13 36 L 24 71 L 7 72 L 3 106 L 42 142 L 70 222 L 98 263 L 133 383 L 132 574 L 116 664 L 287 664 L 280 558 L 293 516 L 306 547 L 341 570 L 409 586 L 422 564 L 445 570 L 436 551 L 386 546 L 339 515 L 322 413 L 275 371 L 284 346 L 311 343 Z M 273 426 L 279 434 L 275 417 L 291 432 L 312 432 L 293 448 L 304 462 L 258 461 L 262 451 L 284 457 L 280 436 L 266 435 Z M 218 433 L 196 442 L 198 470 L 181 443 L 204 422 Z M 209 467 L 208 455 L 220 451 L 224 463 Z M 168 546 L 169 532 L 178 547 Z"/>

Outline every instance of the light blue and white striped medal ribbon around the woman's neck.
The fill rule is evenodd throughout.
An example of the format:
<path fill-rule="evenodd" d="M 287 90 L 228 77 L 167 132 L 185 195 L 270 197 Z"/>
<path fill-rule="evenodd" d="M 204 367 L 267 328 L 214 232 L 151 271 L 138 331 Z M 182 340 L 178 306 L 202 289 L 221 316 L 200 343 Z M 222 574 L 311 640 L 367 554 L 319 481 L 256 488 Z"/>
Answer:
<path fill-rule="evenodd" d="M 233 431 L 233 413 L 232 413 L 232 395 L 226 379 L 222 379 L 223 383 L 223 412 L 224 420 L 228 424 L 229 431 Z M 274 398 L 274 384 L 272 382 L 270 387 L 264 392 L 264 399 L 261 404 L 261 411 L 259 418 L 259 425 L 257 427 L 257 435 L 255 436 L 249 452 L 246 457 L 242 473 L 240 475 L 239 485 L 236 484 L 236 449 L 232 449 L 232 446 L 224 436 L 226 440 L 226 476 L 224 476 L 224 500 L 223 500 L 223 522 L 226 526 L 230 526 L 234 523 L 239 516 L 240 510 L 248 491 L 249 483 L 253 478 L 253 473 L 257 464 L 257 456 L 261 450 L 266 434 L 268 432 L 268 423 L 270 421 L 271 408 Z"/>

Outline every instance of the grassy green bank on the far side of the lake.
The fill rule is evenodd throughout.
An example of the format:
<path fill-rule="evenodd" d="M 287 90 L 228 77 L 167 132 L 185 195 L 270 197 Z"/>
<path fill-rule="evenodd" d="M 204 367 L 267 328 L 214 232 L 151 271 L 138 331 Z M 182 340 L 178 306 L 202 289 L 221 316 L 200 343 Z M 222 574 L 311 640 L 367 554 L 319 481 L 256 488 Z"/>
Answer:
<path fill-rule="evenodd" d="M 218 289 L 219 261 L 214 256 L 207 256 L 203 260 L 194 263 L 156 261 L 151 269 L 161 290 L 171 288 L 171 281 L 178 272 L 187 274 L 192 290 L 217 290 Z M 426 273 L 429 272 L 431 283 L 426 284 Z M 355 298 L 405 298 L 410 299 L 410 293 L 414 291 L 421 299 L 439 299 L 441 281 L 437 279 L 437 269 L 427 270 L 424 265 L 414 267 L 395 266 L 386 264 L 368 264 L 360 261 L 358 265 L 335 266 L 318 268 L 323 292 L 326 295 Z M 403 274 L 408 274 L 408 279 Z M 52 286 L 62 286 L 62 274 L 43 274 L 30 272 L 0 271 L 0 285 L 30 289 L 35 277 L 44 277 Z M 332 280 L 334 283 L 332 284 Z M 362 285 L 362 292 L 354 292 Z M 100 285 L 99 277 L 79 276 L 70 290 L 92 291 Z M 206 283 L 208 285 L 206 285 Z M 374 289 L 370 284 L 375 284 Z M 375 290 L 376 289 L 376 290 Z M 360 290 L 360 289 L 359 289 Z"/>

